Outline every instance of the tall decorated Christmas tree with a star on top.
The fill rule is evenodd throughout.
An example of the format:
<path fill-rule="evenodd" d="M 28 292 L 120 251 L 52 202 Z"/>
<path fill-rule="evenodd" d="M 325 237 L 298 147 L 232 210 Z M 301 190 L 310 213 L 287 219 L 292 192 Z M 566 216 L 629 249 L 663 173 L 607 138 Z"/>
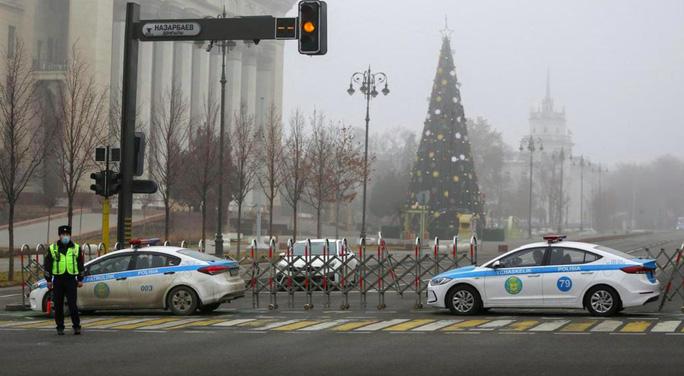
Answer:
<path fill-rule="evenodd" d="M 407 211 L 421 208 L 423 224 L 431 237 L 457 235 L 460 214 L 482 213 L 459 86 L 451 42 L 445 32 L 430 106 L 411 171 Z M 411 219 L 407 225 L 415 231 L 420 223 Z"/>

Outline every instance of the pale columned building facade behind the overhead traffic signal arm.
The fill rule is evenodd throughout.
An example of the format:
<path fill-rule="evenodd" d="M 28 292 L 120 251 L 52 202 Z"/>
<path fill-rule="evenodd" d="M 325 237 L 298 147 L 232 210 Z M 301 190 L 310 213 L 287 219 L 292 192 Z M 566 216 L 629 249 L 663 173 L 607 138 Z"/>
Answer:
<path fill-rule="evenodd" d="M 216 17 L 224 9 L 227 17 L 271 14 L 283 16 L 294 0 L 138 0 L 142 19 Z M 112 109 L 121 98 L 124 0 L 0 0 L 0 48 L 21 40 L 30 53 L 42 100 L 54 103 L 72 49 L 88 63 L 97 84 L 108 89 Z M 16 38 L 16 39 L 15 39 Z M 138 62 L 136 126 L 151 124 L 172 85 L 180 89 L 189 106 L 189 116 L 203 116 L 209 104 L 220 99 L 220 48 L 207 51 L 206 43 L 142 42 Z M 236 42 L 226 59 L 226 124 L 230 125 L 241 105 L 257 125 L 271 105 L 282 108 L 283 42 L 262 41 L 258 45 Z M 192 124 L 192 121 L 189 122 Z M 115 124 L 112 124 L 114 127 Z M 114 130 L 110 129 L 113 134 Z M 154 137 L 150 135 L 149 137 Z M 113 138 L 110 138 L 113 139 Z M 50 162 L 46 171 L 50 171 Z M 44 181 L 54 182 L 46 174 Z M 83 179 L 84 190 L 89 181 Z M 51 184 L 51 183 L 43 183 Z M 41 184 L 30 187 L 39 192 Z"/>

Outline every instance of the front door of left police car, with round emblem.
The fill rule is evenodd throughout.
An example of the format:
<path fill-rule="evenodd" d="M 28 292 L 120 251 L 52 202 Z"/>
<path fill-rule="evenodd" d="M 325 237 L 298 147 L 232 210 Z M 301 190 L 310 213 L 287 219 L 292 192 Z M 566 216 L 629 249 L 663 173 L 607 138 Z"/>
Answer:
<path fill-rule="evenodd" d="M 128 308 L 128 269 L 132 253 L 103 257 L 86 267 L 79 306 L 83 309 Z"/>

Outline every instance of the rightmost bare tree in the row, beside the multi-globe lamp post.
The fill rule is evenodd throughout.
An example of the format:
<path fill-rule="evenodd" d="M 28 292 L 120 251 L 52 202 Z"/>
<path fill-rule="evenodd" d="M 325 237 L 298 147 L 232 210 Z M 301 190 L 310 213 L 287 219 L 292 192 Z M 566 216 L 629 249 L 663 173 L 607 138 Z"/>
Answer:
<path fill-rule="evenodd" d="M 356 197 L 356 188 L 363 183 L 363 153 L 360 144 L 354 144 L 350 127 L 339 124 L 333 128 L 335 139 L 331 148 L 331 183 L 335 202 L 335 237 L 339 237 L 340 206 Z M 375 160 L 369 158 L 369 165 Z"/>

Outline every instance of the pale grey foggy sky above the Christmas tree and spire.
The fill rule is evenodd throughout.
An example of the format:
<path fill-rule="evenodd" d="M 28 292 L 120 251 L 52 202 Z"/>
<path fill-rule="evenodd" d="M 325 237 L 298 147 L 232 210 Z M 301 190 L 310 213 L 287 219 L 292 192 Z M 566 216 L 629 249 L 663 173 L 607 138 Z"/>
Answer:
<path fill-rule="evenodd" d="M 445 15 L 466 116 L 486 117 L 513 146 L 529 132 L 548 67 L 575 154 L 608 163 L 684 158 L 682 0 L 329 0 L 327 55 L 302 56 L 286 43 L 285 118 L 315 105 L 362 126 L 362 97 L 345 90 L 371 64 L 392 91 L 371 103 L 371 132 L 419 133 Z"/>

